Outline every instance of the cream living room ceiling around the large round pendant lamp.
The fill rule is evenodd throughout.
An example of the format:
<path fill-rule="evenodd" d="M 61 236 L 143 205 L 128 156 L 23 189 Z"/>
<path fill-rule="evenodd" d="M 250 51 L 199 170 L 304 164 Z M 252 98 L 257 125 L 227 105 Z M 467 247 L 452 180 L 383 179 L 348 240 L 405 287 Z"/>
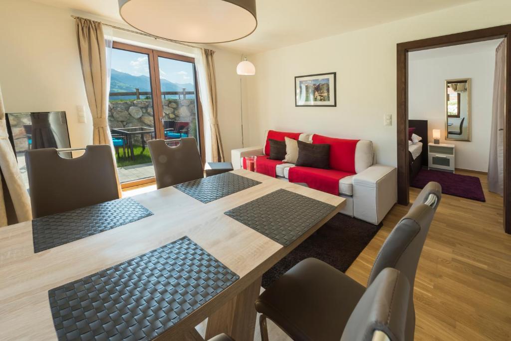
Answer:
<path fill-rule="evenodd" d="M 118 0 L 32 0 L 122 22 Z M 257 53 L 476 0 L 256 0 L 258 28 L 229 50 Z M 169 18 L 172 14 L 169 13 Z"/>

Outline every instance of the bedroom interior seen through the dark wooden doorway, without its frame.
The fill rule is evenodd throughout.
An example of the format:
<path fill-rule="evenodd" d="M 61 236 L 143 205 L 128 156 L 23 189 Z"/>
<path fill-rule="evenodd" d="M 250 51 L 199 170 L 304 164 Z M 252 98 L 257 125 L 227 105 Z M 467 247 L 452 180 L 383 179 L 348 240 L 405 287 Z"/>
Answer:
<path fill-rule="evenodd" d="M 489 163 L 502 150 L 501 139 L 492 144 L 501 134 L 492 128 L 493 110 L 503 108 L 504 84 L 495 77 L 503 44 L 500 38 L 408 53 L 410 187 L 436 181 L 444 194 L 502 201 L 502 173 L 489 173 Z"/>

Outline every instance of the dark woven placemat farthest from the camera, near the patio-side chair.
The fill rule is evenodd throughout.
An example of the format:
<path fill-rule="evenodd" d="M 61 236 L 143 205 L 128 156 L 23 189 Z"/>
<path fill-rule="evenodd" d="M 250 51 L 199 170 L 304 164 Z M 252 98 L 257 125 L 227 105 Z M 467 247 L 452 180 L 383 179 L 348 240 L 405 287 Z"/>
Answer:
<path fill-rule="evenodd" d="M 222 173 L 175 185 L 174 187 L 199 201 L 208 203 L 259 184 L 261 184 L 259 181 L 245 176 Z"/>

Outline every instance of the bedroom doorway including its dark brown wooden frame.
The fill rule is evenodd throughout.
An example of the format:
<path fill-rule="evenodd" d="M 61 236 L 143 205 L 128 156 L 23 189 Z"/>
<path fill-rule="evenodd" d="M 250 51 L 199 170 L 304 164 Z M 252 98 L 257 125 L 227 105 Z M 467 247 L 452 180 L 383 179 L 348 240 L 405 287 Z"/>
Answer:
<path fill-rule="evenodd" d="M 398 44 L 399 203 L 436 181 L 455 197 L 455 209 L 481 208 L 478 216 L 491 209 L 511 233 L 504 209 L 507 32 L 511 26 Z"/>

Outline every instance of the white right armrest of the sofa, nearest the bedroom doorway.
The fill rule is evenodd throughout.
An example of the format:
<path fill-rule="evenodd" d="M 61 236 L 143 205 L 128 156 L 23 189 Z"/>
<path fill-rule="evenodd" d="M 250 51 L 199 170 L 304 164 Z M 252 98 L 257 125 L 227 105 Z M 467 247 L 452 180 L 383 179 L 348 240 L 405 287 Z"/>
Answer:
<path fill-rule="evenodd" d="M 396 167 L 373 165 L 353 177 L 353 213 L 379 224 L 398 201 Z"/>

